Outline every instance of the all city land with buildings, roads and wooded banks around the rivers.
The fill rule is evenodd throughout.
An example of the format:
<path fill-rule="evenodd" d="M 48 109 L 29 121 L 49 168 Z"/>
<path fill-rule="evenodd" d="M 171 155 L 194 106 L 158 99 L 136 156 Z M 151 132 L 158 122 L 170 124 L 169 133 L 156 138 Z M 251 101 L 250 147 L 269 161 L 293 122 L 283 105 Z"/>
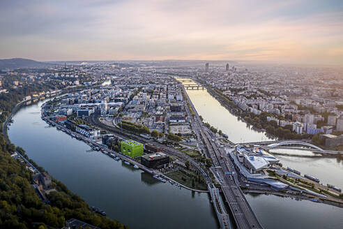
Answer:
<path fill-rule="evenodd" d="M 284 168 L 270 149 L 343 154 L 342 69 L 232 61 L 89 61 L 1 74 L 1 210 L 7 228 L 126 228 L 89 207 L 10 143 L 22 106 L 94 151 L 160 182 L 208 192 L 220 228 L 262 228 L 244 193 L 343 207 L 335 184 Z M 188 90 L 207 90 L 269 141 L 232 142 L 201 117 Z M 125 222 L 122 222 L 125 223 Z"/>

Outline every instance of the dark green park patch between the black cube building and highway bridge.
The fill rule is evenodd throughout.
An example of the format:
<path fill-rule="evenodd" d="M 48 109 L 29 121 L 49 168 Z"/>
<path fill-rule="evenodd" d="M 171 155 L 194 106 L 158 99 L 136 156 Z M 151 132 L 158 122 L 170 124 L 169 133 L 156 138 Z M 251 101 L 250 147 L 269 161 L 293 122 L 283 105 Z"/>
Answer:
<path fill-rule="evenodd" d="M 166 174 L 166 176 L 174 179 L 174 181 L 183 184 L 184 186 L 188 186 L 191 189 L 207 190 L 204 179 L 201 177 L 201 175 L 196 175 L 194 172 L 177 170 L 174 172 L 169 172 Z"/>

